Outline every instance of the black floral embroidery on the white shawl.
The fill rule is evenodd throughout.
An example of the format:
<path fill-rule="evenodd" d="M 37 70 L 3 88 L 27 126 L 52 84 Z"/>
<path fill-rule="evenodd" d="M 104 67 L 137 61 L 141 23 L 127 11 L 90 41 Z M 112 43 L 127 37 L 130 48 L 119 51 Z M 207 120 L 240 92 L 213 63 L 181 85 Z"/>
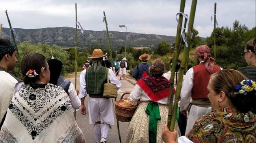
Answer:
<path fill-rule="evenodd" d="M 60 87 L 51 84 L 36 89 L 23 85 L 19 94 L 15 94 L 11 100 L 9 110 L 26 127 L 32 139 L 35 139 L 41 131 L 72 108 L 68 96 L 59 97 L 64 92 Z M 20 95 L 19 98 L 17 95 Z M 36 114 L 37 112 L 40 114 Z"/>

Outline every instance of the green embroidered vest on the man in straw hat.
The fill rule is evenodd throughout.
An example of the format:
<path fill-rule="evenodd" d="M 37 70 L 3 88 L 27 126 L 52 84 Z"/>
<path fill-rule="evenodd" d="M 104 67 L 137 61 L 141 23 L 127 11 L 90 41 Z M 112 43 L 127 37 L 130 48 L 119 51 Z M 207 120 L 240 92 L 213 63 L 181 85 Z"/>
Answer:
<path fill-rule="evenodd" d="M 93 67 L 86 69 L 85 83 L 87 94 L 103 94 L 103 84 L 107 82 L 107 70 L 108 68 L 102 67 L 95 73 Z"/>

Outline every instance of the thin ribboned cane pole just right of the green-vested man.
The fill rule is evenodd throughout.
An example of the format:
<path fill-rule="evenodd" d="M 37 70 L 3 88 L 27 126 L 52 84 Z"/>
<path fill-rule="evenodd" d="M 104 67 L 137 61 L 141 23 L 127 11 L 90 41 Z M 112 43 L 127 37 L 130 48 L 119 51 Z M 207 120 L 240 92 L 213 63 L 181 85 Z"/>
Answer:
<path fill-rule="evenodd" d="M 108 32 L 108 22 L 107 22 L 105 11 L 103 11 L 103 14 L 104 14 L 104 21 L 105 21 L 105 24 L 106 24 L 106 30 L 107 30 L 107 36 L 108 36 L 108 50 L 110 52 L 111 68 L 112 68 L 112 71 L 114 71 L 114 69 L 113 69 L 113 59 L 112 59 L 112 51 L 111 51 L 111 44 L 110 44 L 110 38 L 109 38 L 109 32 Z M 115 101 L 117 101 L 116 98 L 115 98 Z M 118 119 L 117 119 L 117 130 L 118 130 L 119 141 L 120 141 L 120 143 L 122 143 Z"/>

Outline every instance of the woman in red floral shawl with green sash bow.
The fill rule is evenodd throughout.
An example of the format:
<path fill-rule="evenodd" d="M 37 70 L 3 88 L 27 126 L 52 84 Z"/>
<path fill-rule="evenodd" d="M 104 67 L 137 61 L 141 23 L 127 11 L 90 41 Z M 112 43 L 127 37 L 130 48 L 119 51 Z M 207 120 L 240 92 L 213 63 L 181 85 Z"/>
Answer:
<path fill-rule="evenodd" d="M 163 143 L 161 132 L 167 123 L 170 83 L 163 77 L 164 63 L 159 58 L 149 67 L 149 76 L 137 81 L 129 96 L 137 107 L 126 131 L 126 143 Z M 178 124 L 175 123 L 175 129 Z M 180 135 L 179 135 L 180 136 Z"/>

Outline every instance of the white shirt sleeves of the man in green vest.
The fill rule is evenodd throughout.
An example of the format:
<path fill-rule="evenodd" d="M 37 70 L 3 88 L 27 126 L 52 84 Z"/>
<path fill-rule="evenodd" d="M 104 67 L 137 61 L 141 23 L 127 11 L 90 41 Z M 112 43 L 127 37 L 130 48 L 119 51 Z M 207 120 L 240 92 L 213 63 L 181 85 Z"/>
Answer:
<path fill-rule="evenodd" d="M 117 77 L 115 76 L 115 73 L 111 70 L 108 69 L 109 71 L 109 81 L 111 83 L 114 83 L 115 85 L 117 85 L 117 90 L 122 86 L 121 82 L 117 79 Z M 85 83 L 85 74 L 86 74 L 86 69 L 83 70 L 80 74 L 80 94 L 79 94 L 79 98 L 83 98 L 86 97 L 86 83 Z"/>

